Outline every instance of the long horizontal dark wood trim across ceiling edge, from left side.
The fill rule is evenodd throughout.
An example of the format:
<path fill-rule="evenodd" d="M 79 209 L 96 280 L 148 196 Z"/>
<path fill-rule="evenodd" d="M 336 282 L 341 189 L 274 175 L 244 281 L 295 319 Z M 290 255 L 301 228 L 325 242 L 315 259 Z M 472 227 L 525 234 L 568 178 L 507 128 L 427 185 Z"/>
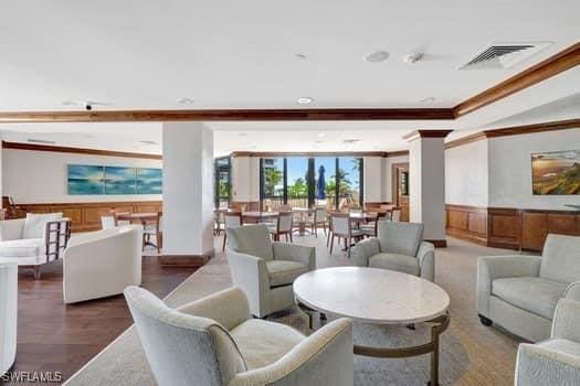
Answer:
<path fill-rule="evenodd" d="M 0 112 L 0 124 L 276 121 L 276 120 L 449 120 L 453 108 L 302 108 Z"/>

